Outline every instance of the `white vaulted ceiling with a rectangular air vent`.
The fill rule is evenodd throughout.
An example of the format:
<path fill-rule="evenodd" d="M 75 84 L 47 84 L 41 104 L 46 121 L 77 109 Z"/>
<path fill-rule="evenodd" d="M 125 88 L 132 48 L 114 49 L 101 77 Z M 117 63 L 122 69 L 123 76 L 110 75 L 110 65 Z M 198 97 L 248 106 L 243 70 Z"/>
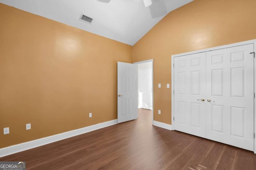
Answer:
<path fill-rule="evenodd" d="M 153 4 L 154 1 L 165 2 L 168 14 L 193 0 L 152 0 Z M 143 0 L 111 0 L 109 3 L 100 0 L 0 0 L 0 3 L 128 45 L 134 45 L 166 15 L 152 18 L 152 9 L 145 7 Z M 79 20 L 82 13 L 93 18 L 91 24 Z"/>

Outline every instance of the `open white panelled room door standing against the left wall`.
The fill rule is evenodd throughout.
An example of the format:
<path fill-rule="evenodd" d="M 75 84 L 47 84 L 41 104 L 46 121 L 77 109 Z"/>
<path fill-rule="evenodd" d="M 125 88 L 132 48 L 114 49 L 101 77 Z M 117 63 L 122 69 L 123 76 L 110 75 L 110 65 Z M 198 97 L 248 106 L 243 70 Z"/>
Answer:
<path fill-rule="evenodd" d="M 117 121 L 137 119 L 137 66 L 117 62 Z"/>

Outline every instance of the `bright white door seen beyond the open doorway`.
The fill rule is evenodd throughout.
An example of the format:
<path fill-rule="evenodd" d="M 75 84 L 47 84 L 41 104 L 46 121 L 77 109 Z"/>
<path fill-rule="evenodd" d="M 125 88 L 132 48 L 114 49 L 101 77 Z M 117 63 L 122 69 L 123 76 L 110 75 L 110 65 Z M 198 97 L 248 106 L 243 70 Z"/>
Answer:
<path fill-rule="evenodd" d="M 139 107 L 152 109 L 152 70 L 139 70 Z"/>

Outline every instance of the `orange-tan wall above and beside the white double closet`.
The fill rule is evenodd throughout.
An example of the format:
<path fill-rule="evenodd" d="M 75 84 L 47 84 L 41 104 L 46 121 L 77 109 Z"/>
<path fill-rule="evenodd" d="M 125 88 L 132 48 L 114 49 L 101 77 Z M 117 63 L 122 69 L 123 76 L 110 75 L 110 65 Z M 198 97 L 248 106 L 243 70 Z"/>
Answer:
<path fill-rule="evenodd" d="M 154 59 L 154 120 L 171 124 L 171 55 L 256 39 L 255 9 L 256 0 L 195 0 L 134 45 L 133 62 Z"/>

